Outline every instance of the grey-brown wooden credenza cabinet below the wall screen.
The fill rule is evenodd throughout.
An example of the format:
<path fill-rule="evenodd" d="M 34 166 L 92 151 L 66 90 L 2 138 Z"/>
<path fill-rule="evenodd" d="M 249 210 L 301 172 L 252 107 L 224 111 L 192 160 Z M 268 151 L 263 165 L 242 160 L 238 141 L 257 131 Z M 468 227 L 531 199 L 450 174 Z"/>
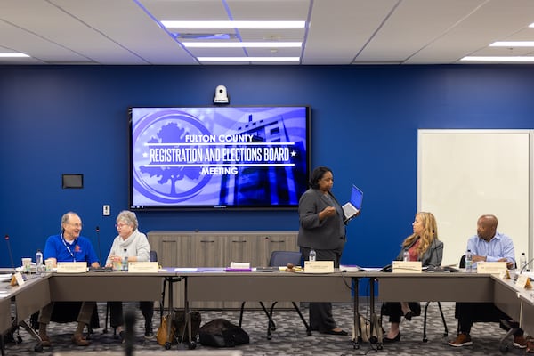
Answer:
<path fill-rule="evenodd" d="M 151 249 L 164 267 L 228 267 L 231 262 L 267 266 L 272 251 L 298 251 L 298 231 L 149 231 Z M 214 291 L 216 294 L 216 291 Z M 279 303 L 287 308 L 290 303 Z M 191 302 L 196 309 L 239 308 L 240 302 Z M 257 308 L 258 303 L 247 303 Z M 174 306 L 183 306 L 181 283 L 174 286 Z M 278 305 L 277 305 L 278 306 Z"/>

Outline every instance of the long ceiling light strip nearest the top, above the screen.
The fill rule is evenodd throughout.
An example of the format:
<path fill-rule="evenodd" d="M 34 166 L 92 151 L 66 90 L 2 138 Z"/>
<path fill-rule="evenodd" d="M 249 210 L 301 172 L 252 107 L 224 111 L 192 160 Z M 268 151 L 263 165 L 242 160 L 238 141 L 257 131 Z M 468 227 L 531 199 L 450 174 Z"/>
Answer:
<path fill-rule="evenodd" d="M 306 21 L 161 21 L 166 28 L 304 28 Z"/>

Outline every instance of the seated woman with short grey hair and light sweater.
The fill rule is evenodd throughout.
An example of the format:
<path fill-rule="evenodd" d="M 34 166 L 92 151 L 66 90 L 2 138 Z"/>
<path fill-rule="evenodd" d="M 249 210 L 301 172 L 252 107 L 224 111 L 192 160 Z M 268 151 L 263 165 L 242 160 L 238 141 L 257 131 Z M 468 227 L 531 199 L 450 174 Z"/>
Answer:
<path fill-rule="evenodd" d="M 138 230 L 137 217 L 130 211 L 122 211 L 117 216 L 118 236 L 113 240 L 109 250 L 106 266 L 122 266 L 126 262 L 150 261 L 150 245 L 147 236 Z M 116 268 L 117 269 L 117 268 Z M 154 315 L 154 302 L 140 302 L 142 315 L 145 319 L 145 337 L 153 338 L 152 316 Z M 121 302 L 109 302 L 110 324 L 116 328 L 122 342 L 125 333 L 123 308 Z"/>

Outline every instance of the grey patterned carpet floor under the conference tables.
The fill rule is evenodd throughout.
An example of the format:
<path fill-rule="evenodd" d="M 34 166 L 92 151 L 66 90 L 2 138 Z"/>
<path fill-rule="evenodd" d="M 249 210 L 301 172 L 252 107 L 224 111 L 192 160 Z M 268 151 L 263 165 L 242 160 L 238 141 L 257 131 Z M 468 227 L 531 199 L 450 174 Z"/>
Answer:
<path fill-rule="evenodd" d="M 125 303 L 125 310 L 136 310 L 137 303 Z M 453 348 L 447 342 L 456 336 L 457 320 L 454 319 L 454 303 L 441 303 L 447 325 L 449 336 L 443 336 L 443 324 L 439 315 L 437 303 L 431 303 L 429 307 L 429 322 L 427 337 L 428 342 L 423 342 L 423 316 L 415 317 L 413 320 L 403 320 L 401 322 L 401 342 L 394 344 L 384 344 L 381 350 L 376 349 L 376 344 L 362 343 L 359 347 L 352 343 L 352 304 L 335 303 L 334 316 L 337 324 L 349 331 L 349 336 L 330 336 L 318 332 L 312 332 L 312 336 L 306 336 L 302 321 L 294 310 L 277 311 L 274 314 L 276 330 L 273 331 L 271 340 L 266 337 L 267 319 L 262 311 L 246 311 L 243 320 L 243 328 L 250 336 L 250 344 L 239 345 L 236 351 L 243 355 L 266 356 L 266 355 L 498 355 L 500 339 L 506 332 L 498 328 L 497 324 L 480 323 L 475 324 L 472 330 L 473 345 L 467 347 Z M 424 304 L 423 304 L 424 306 Z M 23 329 L 19 328 L 20 343 L 9 342 L 6 344 L 6 355 L 63 355 L 63 354 L 123 354 L 124 346 L 113 336 L 113 331 L 108 328 L 104 333 L 105 303 L 99 303 L 99 315 L 101 328 L 95 329 L 91 337 L 91 345 L 79 347 L 70 342 L 72 331 L 76 328 L 75 323 L 57 324 L 51 323 L 49 336 L 52 338 L 53 346 L 45 348 L 43 353 L 34 350 L 35 341 Z M 379 309 L 377 309 L 379 310 Z M 307 318 L 308 310 L 305 303 L 302 305 L 303 315 Z M 198 311 L 201 314 L 202 322 L 216 318 L 224 318 L 231 322 L 239 323 L 239 311 Z M 360 313 L 368 315 L 368 305 L 360 304 Z M 135 324 L 135 344 L 134 355 L 156 355 L 174 354 L 175 352 L 186 352 L 182 344 L 173 344 L 170 350 L 159 345 L 156 340 L 145 340 L 143 337 L 142 314 L 136 310 Z M 155 312 L 154 327 L 158 328 L 159 312 Z M 383 326 L 388 328 L 387 320 Z M 15 334 L 17 336 L 17 334 Z M 18 339 L 19 337 L 15 337 Z M 508 344 L 511 340 L 508 340 Z M 212 351 L 213 348 L 197 344 L 195 352 Z M 165 352 L 165 353 L 164 353 Z M 516 349 L 510 344 L 508 354 L 524 354 L 524 350 Z"/>

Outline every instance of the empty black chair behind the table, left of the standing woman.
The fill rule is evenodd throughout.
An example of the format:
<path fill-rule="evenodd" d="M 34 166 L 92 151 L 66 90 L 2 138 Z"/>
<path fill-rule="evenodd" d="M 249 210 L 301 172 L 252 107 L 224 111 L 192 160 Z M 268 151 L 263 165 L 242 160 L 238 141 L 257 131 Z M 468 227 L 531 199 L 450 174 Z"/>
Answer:
<path fill-rule="evenodd" d="M 302 258 L 303 258 L 302 254 L 299 251 L 272 251 L 271 258 L 269 260 L 269 266 L 270 267 L 287 266 L 288 263 L 292 263 L 295 266 L 301 266 Z M 239 313 L 239 327 L 241 327 L 241 324 L 243 321 L 243 312 L 245 310 L 245 303 L 247 302 L 241 303 L 241 312 Z M 267 311 L 265 304 L 263 302 L 260 302 L 263 312 L 265 312 L 265 315 L 267 315 L 267 318 L 269 320 L 269 323 L 267 326 L 267 339 L 268 340 L 271 340 L 272 338 L 272 331 L 276 330 L 276 325 L 274 324 L 274 321 L 272 320 L 272 313 L 277 303 L 278 302 L 273 302 L 271 304 L 270 310 Z M 304 327 L 306 328 L 306 335 L 311 336 L 312 330 L 310 329 L 308 322 L 304 319 L 303 313 L 301 312 L 300 308 L 298 307 L 298 305 L 296 305 L 295 302 L 291 302 L 291 303 L 293 304 L 293 307 L 295 308 L 295 312 L 297 312 L 300 319 L 303 320 Z"/>

